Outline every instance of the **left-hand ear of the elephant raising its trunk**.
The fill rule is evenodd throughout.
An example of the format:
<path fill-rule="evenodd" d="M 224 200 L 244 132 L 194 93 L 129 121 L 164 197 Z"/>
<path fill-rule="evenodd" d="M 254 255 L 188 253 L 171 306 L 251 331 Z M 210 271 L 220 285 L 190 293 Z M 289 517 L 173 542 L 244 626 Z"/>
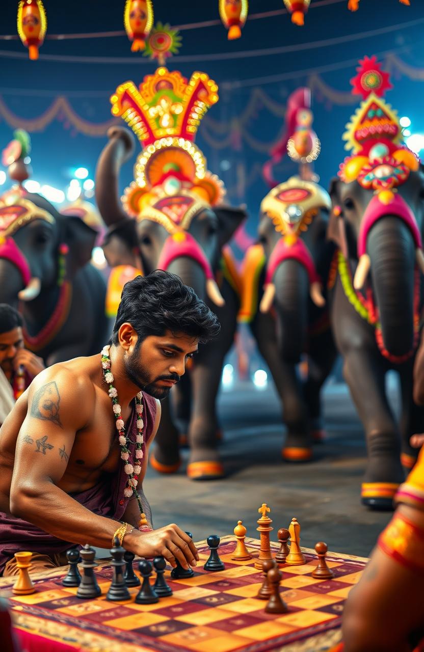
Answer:
<path fill-rule="evenodd" d="M 127 217 L 112 224 L 106 232 L 102 248 L 111 267 L 132 265 L 140 269 L 136 220 Z"/>

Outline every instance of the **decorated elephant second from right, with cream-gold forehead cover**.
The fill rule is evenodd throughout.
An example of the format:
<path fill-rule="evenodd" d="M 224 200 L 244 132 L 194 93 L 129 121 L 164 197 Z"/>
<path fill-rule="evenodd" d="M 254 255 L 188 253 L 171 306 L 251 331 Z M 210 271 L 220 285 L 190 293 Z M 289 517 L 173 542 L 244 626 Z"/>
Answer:
<path fill-rule="evenodd" d="M 244 264 L 239 319 L 250 321 L 280 395 L 288 462 L 310 460 L 312 440 L 324 434 L 320 390 L 336 356 L 325 305 L 334 252 L 326 240 L 330 205 L 326 190 L 312 181 L 280 183 L 262 201 L 259 243 Z M 303 355 L 304 381 L 297 370 Z"/>

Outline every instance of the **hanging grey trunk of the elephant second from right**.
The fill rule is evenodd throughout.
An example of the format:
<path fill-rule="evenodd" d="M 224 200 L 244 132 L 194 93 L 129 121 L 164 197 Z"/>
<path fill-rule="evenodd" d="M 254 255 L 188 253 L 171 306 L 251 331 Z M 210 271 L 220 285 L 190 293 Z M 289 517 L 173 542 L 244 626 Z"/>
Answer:
<path fill-rule="evenodd" d="M 309 277 L 295 259 L 284 260 L 274 275 L 277 336 L 284 361 L 297 364 L 305 350 L 308 325 Z"/>

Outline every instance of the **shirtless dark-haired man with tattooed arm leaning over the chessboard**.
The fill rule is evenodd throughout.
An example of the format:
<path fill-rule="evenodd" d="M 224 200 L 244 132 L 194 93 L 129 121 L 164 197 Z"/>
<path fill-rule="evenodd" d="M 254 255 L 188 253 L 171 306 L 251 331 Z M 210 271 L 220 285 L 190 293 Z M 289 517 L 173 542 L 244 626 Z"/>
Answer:
<path fill-rule="evenodd" d="M 72 544 L 110 548 L 118 531 L 134 554 L 196 565 L 179 527 L 153 529 L 142 482 L 160 421 L 155 398 L 219 329 L 191 288 L 156 271 L 125 285 L 101 357 L 37 376 L 0 430 L 0 572 L 16 572 L 18 550 L 32 551 L 39 571 L 66 563 Z"/>

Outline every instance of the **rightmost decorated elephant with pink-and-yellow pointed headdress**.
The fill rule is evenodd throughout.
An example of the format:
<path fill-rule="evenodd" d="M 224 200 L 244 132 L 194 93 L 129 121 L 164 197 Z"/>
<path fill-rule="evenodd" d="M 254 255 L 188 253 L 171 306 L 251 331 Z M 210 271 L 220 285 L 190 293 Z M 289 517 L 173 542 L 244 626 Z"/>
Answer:
<path fill-rule="evenodd" d="M 412 398 L 423 307 L 424 175 L 382 99 L 387 73 L 375 57 L 360 63 L 352 83 L 364 100 L 344 134 L 352 156 L 330 190 L 328 235 L 338 247 L 331 323 L 367 439 L 362 502 L 386 509 L 416 459 L 410 436 L 424 426 L 424 410 Z M 388 370 L 401 381 L 399 426 L 386 393 Z"/>

